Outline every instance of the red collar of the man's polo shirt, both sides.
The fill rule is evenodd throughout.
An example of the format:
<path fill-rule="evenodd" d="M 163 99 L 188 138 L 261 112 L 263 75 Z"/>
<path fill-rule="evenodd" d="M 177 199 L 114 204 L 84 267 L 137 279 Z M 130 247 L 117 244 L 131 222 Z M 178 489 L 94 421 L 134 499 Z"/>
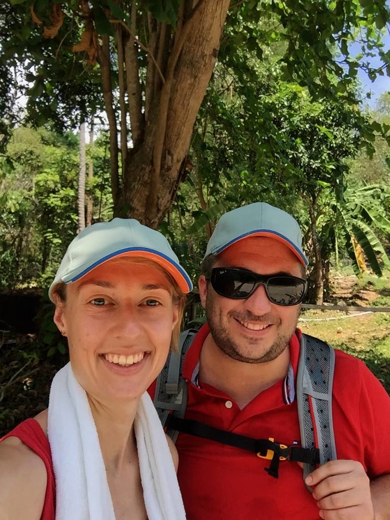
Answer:
<path fill-rule="evenodd" d="M 200 351 L 202 350 L 206 337 L 210 334 L 210 328 L 205 323 L 194 337 L 192 344 L 186 355 L 183 365 L 183 378 L 187 381 L 191 381 L 194 385 L 198 384 L 199 375 L 199 359 Z M 298 368 L 298 360 L 300 355 L 300 341 L 302 332 L 300 329 L 296 329 L 292 335 L 289 348 L 290 348 L 290 365 L 287 375 L 283 382 L 283 398 L 287 405 L 291 405 L 295 400 L 295 383 L 296 383 L 296 372 Z"/>

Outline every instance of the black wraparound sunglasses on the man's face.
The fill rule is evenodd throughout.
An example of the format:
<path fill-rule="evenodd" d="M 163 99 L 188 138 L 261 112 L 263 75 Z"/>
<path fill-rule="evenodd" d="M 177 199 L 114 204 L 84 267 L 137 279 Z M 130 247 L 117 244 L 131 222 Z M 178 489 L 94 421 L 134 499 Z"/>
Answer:
<path fill-rule="evenodd" d="M 262 276 L 238 267 L 214 267 L 210 280 L 220 296 L 245 300 L 264 285 L 268 300 L 276 305 L 297 305 L 307 291 L 307 280 L 295 276 Z"/>

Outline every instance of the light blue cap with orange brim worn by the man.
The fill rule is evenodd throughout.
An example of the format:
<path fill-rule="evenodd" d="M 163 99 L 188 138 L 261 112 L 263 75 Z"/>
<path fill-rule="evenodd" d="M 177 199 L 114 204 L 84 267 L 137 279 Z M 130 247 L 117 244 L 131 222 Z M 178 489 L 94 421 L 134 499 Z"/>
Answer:
<path fill-rule="evenodd" d="M 303 265 L 302 232 L 295 218 L 266 202 L 254 202 L 229 211 L 220 217 L 207 244 L 206 256 L 218 255 L 229 245 L 246 237 L 271 237 L 283 242 Z"/>

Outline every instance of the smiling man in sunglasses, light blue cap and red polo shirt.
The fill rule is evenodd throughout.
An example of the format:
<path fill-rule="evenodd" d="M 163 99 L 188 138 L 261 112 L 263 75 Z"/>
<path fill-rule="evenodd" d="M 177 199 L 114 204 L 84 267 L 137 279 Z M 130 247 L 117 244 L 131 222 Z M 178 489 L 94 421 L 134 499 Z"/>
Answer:
<path fill-rule="evenodd" d="M 199 278 L 207 324 L 183 366 L 185 419 L 300 444 L 294 385 L 306 265 L 300 228 L 287 213 L 255 203 L 219 220 Z M 296 462 L 282 460 L 276 479 L 264 471 L 272 453 L 256 457 L 180 433 L 178 479 L 188 520 L 390 518 L 390 398 L 361 361 L 340 351 L 333 423 L 337 460 L 307 477 L 312 494 Z"/>

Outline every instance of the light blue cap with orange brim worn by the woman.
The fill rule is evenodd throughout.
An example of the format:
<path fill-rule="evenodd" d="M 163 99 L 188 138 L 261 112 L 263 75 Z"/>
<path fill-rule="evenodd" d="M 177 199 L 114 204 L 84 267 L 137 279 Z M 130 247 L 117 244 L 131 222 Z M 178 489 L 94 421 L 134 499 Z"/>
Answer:
<path fill-rule="evenodd" d="M 190 277 L 164 235 L 134 218 L 114 218 L 86 227 L 72 240 L 50 285 L 50 300 L 54 302 L 53 289 L 58 283 L 75 282 L 116 256 L 151 259 L 169 272 L 184 293 L 192 290 Z"/>

